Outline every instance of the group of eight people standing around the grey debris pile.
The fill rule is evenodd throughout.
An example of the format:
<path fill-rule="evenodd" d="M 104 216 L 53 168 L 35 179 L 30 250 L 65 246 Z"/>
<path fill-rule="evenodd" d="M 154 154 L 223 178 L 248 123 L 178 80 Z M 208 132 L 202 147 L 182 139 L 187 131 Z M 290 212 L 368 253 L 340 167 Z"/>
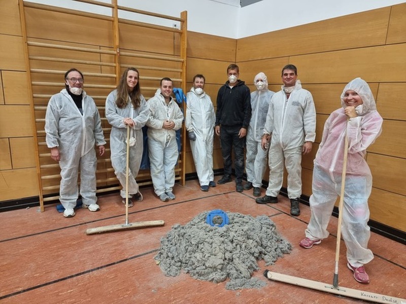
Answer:
<path fill-rule="evenodd" d="M 297 68 L 282 68 L 282 87 L 268 90 L 263 72 L 254 77 L 256 90 L 250 93 L 239 79 L 239 66 L 227 67 L 228 80 L 217 94 L 215 111 L 204 91 L 202 74 L 193 78 L 193 87 L 186 94 L 185 127 L 192 150 L 201 191 L 215 187 L 213 172 L 214 133 L 220 137 L 224 175 L 218 184 L 231 182 L 232 151 L 234 153 L 235 189 L 253 189 L 258 204 L 278 203 L 284 167 L 288 177 L 290 213 L 300 215 L 301 156 L 311 152 L 316 137 L 316 110 L 312 94 L 297 79 Z M 148 126 L 148 154 L 154 192 L 161 201 L 174 200 L 175 166 L 179 157 L 176 130 L 182 127 L 184 115 L 172 97 L 173 82 L 162 78 L 155 96 L 145 100 L 141 94 L 140 73 L 127 68 L 115 90 L 106 99 L 106 118 L 111 124 L 111 162 L 122 186 L 125 204 L 142 201 L 136 181 L 143 154 L 142 128 Z M 73 217 L 78 194 L 82 207 L 100 210 L 96 198 L 97 156 L 105 153 L 100 115 L 94 100 L 83 90 L 81 71 L 72 68 L 64 75 L 65 88 L 53 95 L 46 111 L 46 142 L 51 158 L 60 166 L 60 202 L 63 216 Z M 310 249 L 328 237 L 327 225 L 337 196 L 340 195 L 344 150 L 348 149 L 343 212 L 343 238 L 347 246 L 348 268 L 355 280 L 368 283 L 364 264 L 373 259 L 367 248 L 370 237 L 368 198 L 372 177 L 364 159 L 367 147 L 382 131 L 374 96 L 368 84 L 356 78 L 341 94 L 341 107 L 325 122 L 323 135 L 314 160 L 312 195 L 309 203 L 311 219 L 306 238 L 299 245 Z M 127 128 L 130 138 L 127 143 Z M 345 146 L 347 137 L 348 147 Z M 129 145 L 128 189 L 126 184 L 126 149 Z M 95 149 L 94 147 L 97 147 Z M 244 162 L 244 149 L 246 160 Z M 262 177 L 269 166 L 268 187 L 261 196 Z M 245 163 L 245 166 L 244 166 Z M 244 168 L 247 182 L 243 184 Z M 80 189 L 78 172 L 80 171 Z"/>

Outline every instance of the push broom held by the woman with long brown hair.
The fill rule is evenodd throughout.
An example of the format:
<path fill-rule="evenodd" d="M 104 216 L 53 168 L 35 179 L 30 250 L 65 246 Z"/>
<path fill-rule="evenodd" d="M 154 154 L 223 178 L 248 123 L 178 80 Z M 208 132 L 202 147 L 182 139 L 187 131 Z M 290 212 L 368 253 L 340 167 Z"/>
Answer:
<path fill-rule="evenodd" d="M 128 174 L 129 174 L 129 150 L 130 150 L 129 141 L 130 141 L 130 127 L 127 125 L 127 158 L 126 158 L 126 172 L 125 172 L 125 223 L 117 224 L 117 225 L 110 225 L 110 226 L 103 226 L 103 227 L 96 227 L 96 228 L 89 228 L 88 230 L 86 230 L 86 234 L 88 234 L 88 235 L 96 234 L 96 233 L 104 233 L 104 232 L 139 229 L 139 228 L 153 227 L 153 226 L 163 226 L 163 224 L 164 224 L 163 220 L 151 220 L 151 221 L 128 223 Z"/>

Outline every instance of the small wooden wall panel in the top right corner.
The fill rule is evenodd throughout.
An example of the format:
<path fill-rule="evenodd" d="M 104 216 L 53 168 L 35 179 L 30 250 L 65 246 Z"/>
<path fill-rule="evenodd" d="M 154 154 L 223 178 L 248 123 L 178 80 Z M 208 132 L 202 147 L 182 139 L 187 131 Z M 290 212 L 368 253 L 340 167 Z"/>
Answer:
<path fill-rule="evenodd" d="M 406 42 L 406 3 L 392 6 L 386 44 Z"/>

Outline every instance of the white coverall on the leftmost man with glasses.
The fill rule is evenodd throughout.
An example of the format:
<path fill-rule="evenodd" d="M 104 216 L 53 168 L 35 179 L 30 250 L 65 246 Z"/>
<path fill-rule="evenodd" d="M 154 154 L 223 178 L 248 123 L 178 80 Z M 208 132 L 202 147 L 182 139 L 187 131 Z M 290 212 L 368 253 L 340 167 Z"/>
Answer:
<path fill-rule="evenodd" d="M 82 109 L 83 115 L 66 89 L 63 89 L 51 97 L 45 115 L 47 146 L 59 149 L 59 201 L 65 209 L 76 207 L 79 169 L 83 204 L 97 202 L 97 157 L 94 145 L 105 145 L 106 141 L 96 104 L 85 91 L 82 91 Z"/>

